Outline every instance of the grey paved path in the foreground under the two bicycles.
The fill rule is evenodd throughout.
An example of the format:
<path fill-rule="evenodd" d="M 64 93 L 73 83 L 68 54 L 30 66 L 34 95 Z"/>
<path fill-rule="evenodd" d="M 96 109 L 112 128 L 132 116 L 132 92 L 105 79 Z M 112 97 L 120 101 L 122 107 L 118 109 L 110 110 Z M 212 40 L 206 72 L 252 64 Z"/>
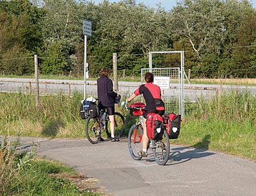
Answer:
<path fill-rule="evenodd" d="M 164 166 L 152 154 L 131 158 L 127 139 L 92 145 L 88 140 L 22 138 L 20 148 L 39 144 L 37 153 L 100 180 L 115 196 L 256 195 L 256 162 L 194 147 L 172 145 Z"/>

